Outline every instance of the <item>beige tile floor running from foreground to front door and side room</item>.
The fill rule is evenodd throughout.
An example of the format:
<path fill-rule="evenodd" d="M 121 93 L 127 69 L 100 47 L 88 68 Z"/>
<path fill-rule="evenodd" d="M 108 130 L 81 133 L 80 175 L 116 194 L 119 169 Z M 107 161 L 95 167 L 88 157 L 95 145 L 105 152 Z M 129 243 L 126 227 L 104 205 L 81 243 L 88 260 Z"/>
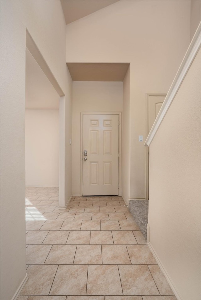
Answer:
<path fill-rule="evenodd" d="M 177 300 L 122 197 L 27 187 L 26 243 L 18 300 Z"/>

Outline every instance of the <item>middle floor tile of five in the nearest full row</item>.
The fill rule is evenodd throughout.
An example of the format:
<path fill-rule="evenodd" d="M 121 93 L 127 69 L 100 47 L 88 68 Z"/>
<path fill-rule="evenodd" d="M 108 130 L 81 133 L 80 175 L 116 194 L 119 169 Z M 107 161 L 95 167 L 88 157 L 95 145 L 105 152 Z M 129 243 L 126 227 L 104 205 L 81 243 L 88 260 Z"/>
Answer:
<path fill-rule="evenodd" d="M 87 295 L 122 295 L 117 265 L 89 265 Z"/>

